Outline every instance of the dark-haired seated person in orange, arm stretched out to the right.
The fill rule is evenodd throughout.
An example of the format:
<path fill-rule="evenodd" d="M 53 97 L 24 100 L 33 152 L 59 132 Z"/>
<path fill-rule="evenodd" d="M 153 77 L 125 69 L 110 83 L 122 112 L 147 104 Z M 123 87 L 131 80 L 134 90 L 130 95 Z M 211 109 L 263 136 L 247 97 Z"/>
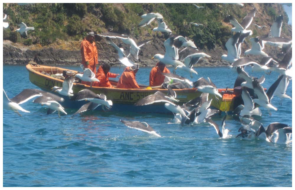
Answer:
<path fill-rule="evenodd" d="M 114 88 L 109 82 L 109 77 L 116 78 L 119 74 L 110 73 L 110 69 L 111 67 L 107 63 L 103 63 L 102 66 L 99 66 L 96 74 L 96 78 L 99 82 L 95 82 L 93 86 Z"/>

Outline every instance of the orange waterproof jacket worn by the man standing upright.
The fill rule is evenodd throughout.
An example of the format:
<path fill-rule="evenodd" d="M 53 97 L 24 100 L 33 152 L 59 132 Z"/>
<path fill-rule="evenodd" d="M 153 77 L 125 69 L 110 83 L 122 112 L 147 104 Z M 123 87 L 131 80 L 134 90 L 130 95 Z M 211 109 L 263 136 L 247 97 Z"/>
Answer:
<path fill-rule="evenodd" d="M 81 42 L 81 55 L 82 55 L 82 64 L 85 68 L 95 69 L 95 65 L 98 64 L 98 54 L 96 49 L 95 42 L 90 43 L 86 38 Z M 86 62 L 89 61 L 89 65 L 86 65 Z M 93 71 L 96 73 L 96 71 Z"/>

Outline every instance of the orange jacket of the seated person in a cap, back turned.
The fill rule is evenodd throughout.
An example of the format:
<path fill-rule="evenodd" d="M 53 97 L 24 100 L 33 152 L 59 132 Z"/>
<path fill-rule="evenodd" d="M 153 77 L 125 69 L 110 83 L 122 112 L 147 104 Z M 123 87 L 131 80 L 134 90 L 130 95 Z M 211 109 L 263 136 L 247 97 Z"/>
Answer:
<path fill-rule="evenodd" d="M 135 73 L 130 67 L 126 67 L 118 81 L 117 88 L 119 89 L 135 89 L 139 88 L 136 80 Z"/>

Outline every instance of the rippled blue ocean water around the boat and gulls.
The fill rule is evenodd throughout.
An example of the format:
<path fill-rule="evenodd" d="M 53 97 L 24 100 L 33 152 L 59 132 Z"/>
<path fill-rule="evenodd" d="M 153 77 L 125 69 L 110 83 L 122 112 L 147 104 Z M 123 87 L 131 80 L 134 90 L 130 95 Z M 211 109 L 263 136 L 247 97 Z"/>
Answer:
<path fill-rule="evenodd" d="M 78 66 L 60 66 L 79 70 Z M 121 74 L 124 67 L 112 67 Z M 140 68 L 137 81 L 148 85 L 151 68 Z M 227 67 L 202 68 L 192 81 L 210 77 L 218 88 L 232 88 L 237 73 Z M 247 70 L 247 69 L 246 69 Z M 170 68 L 172 71 L 172 68 Z M 263 73 L 250 75 L 260 77 Z M 188 77 L 189 74 L 176 71 Z M 265 76 L 269 88 L 278 74 Z M 17 81 L 16 81 L 17 78 Z M 12 98 L 29 81 L 24 65 L 3 65 L 3 88 Z M 287 93 L 292 97 L 292 81 Z M 278 111 L 262 109 L 264 126 L 281 122 L 292 126 L 292 101 L 274 97 Z M 240 123 L 230 114 L 225 127 L 232 137 L 220 139 L 207 123 L 173 123 L 173 114 L 90 111 L 73 116 L 46 115 L 47 108 L 22 104 L 30 113 L 19 117 L 3 110 L 3 186 L 5 187 L 291 187 L 292 144 L 235 138 Z M 219 125 L 222 116 L 212 119 Z M 120 122 L 147 122 L 162 137 L 130 129 Z"/>

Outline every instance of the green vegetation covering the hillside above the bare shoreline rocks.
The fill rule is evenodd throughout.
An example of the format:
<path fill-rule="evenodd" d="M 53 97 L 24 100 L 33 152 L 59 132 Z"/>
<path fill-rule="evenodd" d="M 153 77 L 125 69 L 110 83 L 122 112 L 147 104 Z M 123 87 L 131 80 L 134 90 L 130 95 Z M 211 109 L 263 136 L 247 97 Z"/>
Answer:
<path fill-rule="evenodd" d="M 138 27 L 142 14 L 158 12 L 173 31 L 194 40 L 200 49 L 211 50 L 224 46 L 230 38 L 232 25 L 226 21 L 228 15 L 239 22 L 253 9 L 259 6 L 262 14 L 267 14 L 269 23 L 284 14 L 284 23 L 288 17 L 279 4 L 245 4 L 244 7 L 221 3 L 199 3 L 204 9 L 196 9 L 191 3 L 32 3 L 20 6 L 17 3 L 4 3 L 3 12 L 8 15 L 9 28 L 4 29 L 3 39 L 24 45 L 50 45 L 57 39 L 71 41 L 82 40 L 89 31 L 117 32 L 127 34 L 137 40 L 163 36 L 153 32 L 157 22 L 146 27 Z M 255 23 L 260 22 L 255 17 Z M 14 32 L 20 22 L 35 30 L 28 32 L 28 38 Z M 204 24 L 194 27 L 189 22 Z M 259 23 L 258 23 L 259 24 Z M 263 24 L 263 23 L 262 23 Z M 289 34 L 286 24 L 283 33 Z M 256 29 L 253 36 L 259 35 Z"/>

